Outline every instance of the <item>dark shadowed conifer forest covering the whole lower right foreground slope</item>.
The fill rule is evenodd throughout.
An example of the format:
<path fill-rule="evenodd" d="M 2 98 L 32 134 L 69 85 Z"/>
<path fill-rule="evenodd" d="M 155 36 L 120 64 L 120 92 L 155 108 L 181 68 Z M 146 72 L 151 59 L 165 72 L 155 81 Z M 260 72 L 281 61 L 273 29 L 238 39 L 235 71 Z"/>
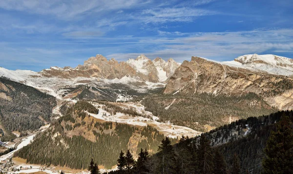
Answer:
<path fill-rule="evenodd" d="M 281 118 L 283 118 L 282 121 L 280 121 Z M 288 122 L 284 122 L 286 120 Z M 120 154 L 120 156 L 117 156 L 117 164 L 120 166 L 119 171 L 109 172 L 108 174 L 261 174 L 263 164 L 265 164 L 264 161 L 271 163 L 269 167 L 276 162 L 279 162 L 276 165 L 287 165 L 289 168 L 278 168 L 276 166 L 277 168 L 274 168 L 274 170 L 283 171 L 280 174 L 291 174 L 289 171 L 293 171 L 293 161 L 290 156 L 293 155 L 293 147 L 288 147 L 286 152 L 273 150 L 282 149 L 281 146 L 285 142 L 283 140 L 285 137 L 290 138 L 286 143 L 293 144 L 292 121 L 293 111 L 282 111 L 269 116 L 238 120 L 198 137 L 188 138 L 183 136 L 179 143 L 173 146 L 166 138 L 162 140 L 158 147 L 159 152 L 157 154 L 144 155 L 141 151 L 142 153 L 140 153 L 136 162 L 130 164 L 127 162 L 129 161 L 127 160 L 128 152 L 126 155 Z M 281 124 L 284 127 L 280 127 L 280 122 L 283 122 Z M 284 131 L 285 127 L 288 128 L 289 132 Z M 247 135 L 240 135 L 243 130 L 249 130 Z M 231 132 L 238 132 L 239 137 L 230 138 Z M 272 132 L 274 132 L 274 135 L 280 136 L 271 136 Z M 269 137 L 271 138 L 270 142 L 274 143 L 272 146 L 267 144 Z M 213 142 L 219 141 L 217 139 L 226 139 L 227 141 L 225 144 L 216 145 Z M 274 146 L 277 142 L 280 147 Z M 272 156 L 274 154 L 281 156 L 282 154 L 289 154 L 284 159 L 272 158 L 268 160 L 266 155 L 269 155 L 270 147 L 272 147 Z M 123 162 L 123 160 L 125 161 Z M 133 167 L 127 168 L 127 165 Z M 284 173 L 284 171 L 287 171 L 287 173 Z"/>

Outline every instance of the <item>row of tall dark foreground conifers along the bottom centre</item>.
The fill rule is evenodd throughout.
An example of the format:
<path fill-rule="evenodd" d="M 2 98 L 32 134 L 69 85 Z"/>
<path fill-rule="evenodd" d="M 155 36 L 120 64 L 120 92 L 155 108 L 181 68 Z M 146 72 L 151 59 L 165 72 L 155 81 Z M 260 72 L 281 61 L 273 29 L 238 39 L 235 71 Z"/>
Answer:
<path fill-rule="evenodd" d="M 150 156 L 141 149 L 136 161 L 129 151 L 126 155 L 121 151 L 117 166 L 118 171 L 108 174 L 240 174 L 238 156 L 235 155 L 232 163 L 227 164 L 224 156 L 211 148 L 205 135 L 201 136 L 199 145 L 182 136 L 174 147 L 166 137 L 156 155 Z"/>

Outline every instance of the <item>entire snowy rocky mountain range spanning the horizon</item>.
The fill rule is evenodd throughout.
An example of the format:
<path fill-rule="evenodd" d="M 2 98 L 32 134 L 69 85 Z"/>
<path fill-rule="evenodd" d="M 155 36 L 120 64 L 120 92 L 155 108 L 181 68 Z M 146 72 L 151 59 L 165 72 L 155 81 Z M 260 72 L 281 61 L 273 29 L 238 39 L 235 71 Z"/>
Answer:
<path fill-rule="evenodd" d="M 51 67 L 41 72 L 0 68 L 0 76 L 60 99 L 67 87 L 111 88 L 109 84 L 125 84 L 138 93 L 163 87 L 164 94 L 242 95 L 252 92 L 278 109 L 292 109 L 293 106 L 293 59 L 275 55 L 244 55 L 223 62 L 192 57 L 182 64 L 171 58 L 150 60 L 144 55 L 125 62 L 96 55 L 75 68 Z"/>

